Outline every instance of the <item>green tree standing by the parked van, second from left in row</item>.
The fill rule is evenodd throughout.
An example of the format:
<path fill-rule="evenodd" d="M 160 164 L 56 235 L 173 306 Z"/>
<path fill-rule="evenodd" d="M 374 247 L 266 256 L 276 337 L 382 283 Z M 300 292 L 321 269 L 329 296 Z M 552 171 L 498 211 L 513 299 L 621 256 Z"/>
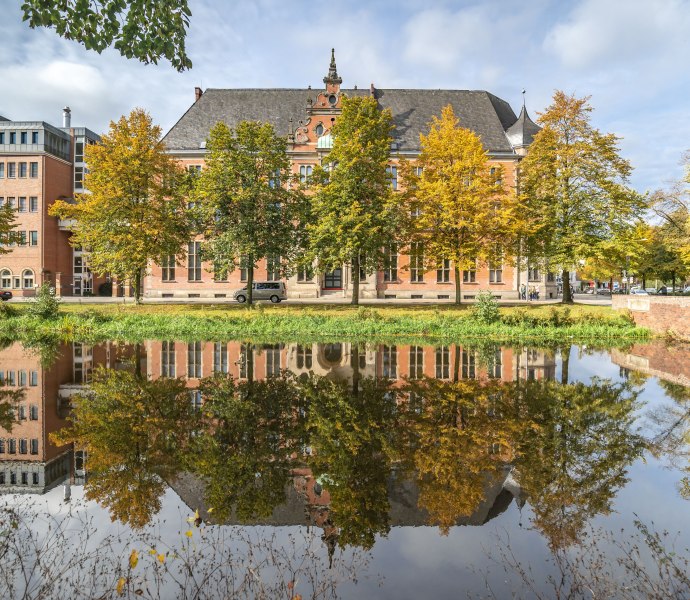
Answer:
<path fill-rule="evenodd" d="M 306 199 L 289 185 L 287 142 L 269 123 L 242 121 L 235 129 L 218 123 L 206 148 L 206 166 L 195 186 L 204 224 L 202 255 L 217 276 L 246 269 L 251 304 L 258 261 L 270 259 L 281 273 L 297 261 Z"/>

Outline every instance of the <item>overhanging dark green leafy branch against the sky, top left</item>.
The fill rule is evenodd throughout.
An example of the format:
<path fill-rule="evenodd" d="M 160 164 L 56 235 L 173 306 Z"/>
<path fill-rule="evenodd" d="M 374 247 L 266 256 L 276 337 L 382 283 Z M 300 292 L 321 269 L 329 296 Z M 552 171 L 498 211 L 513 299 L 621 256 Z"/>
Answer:
<path fill-rule="evenodd" d="M 55 28 L 99 54 L 113 46 L 145 64 L 165 58 L 178 71 L 192 67 L 185 38 L 192 15 L 187 0 L 24 0 L 29 27 Z"/>

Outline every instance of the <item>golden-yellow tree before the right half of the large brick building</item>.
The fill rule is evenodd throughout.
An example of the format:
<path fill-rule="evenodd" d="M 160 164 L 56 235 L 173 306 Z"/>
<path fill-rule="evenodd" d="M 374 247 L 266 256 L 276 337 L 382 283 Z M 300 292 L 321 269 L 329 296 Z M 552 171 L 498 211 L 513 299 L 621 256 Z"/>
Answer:
<path fill-rule="evenodd" d="M 502 183 L 500 165 L 491 165 L 477 134 L 460 126 L 453 107 L 434 117 L 420 135 L 421 153 L 406 168 L 405 214 L 411 240 L 421 243 L 423 262 L 437 269 L 452 261 L 455 303 L 461 303 L 461 272 L 480 264 L 501 264 L 522 227 L 516 196 Z"/>

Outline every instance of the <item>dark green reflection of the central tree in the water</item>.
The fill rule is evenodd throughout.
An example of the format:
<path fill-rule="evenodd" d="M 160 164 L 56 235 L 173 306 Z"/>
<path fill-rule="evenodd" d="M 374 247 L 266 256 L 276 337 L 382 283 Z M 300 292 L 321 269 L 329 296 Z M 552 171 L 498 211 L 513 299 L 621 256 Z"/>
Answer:
<path fill-rule="evenodd" d="M 309 460 L 331 497 L 330 518 L 340 529 L 338 543 L 373 546 L 390 529 L 388 480 L 397 452 L 396 392 L 385 382 L 360 380 L 358 357 L 352 388 L 345 381 L 312 377 L 305 381 Z"/>

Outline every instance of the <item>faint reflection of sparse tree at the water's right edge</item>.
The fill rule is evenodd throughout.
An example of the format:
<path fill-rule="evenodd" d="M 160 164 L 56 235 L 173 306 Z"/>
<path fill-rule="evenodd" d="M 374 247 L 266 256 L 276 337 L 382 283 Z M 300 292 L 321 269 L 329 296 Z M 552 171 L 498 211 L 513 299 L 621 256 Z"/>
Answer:
<path fill-rule="evenodd" d="M 673 404 L 665 404 L 648 413 L 652 425 L 650 450 L 686 473 L 680 491 L 690 500 L 690 387 L 664 380 L 660 380 L 659 385 Z"/>

